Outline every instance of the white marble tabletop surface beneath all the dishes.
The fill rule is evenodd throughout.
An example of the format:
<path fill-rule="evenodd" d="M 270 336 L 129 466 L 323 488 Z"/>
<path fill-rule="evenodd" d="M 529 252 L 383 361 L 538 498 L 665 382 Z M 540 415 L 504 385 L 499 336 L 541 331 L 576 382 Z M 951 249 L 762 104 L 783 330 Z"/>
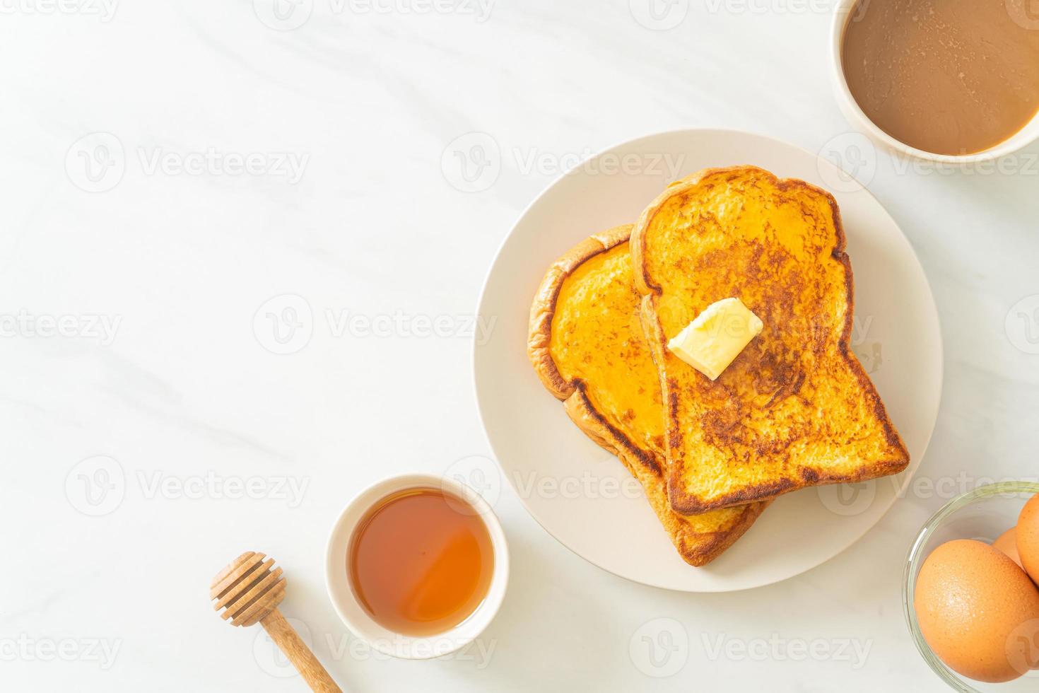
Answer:
<path fill-rule="evenodd" d="M 1003 172 L 862 153 L 941 315 L 921 469 L 938 490 L 800 578 L 690 595 L 585 563 L 507 489 L 512 581 L 483 654 L 387 661 L 330 610 L 326 531 L 379 477 L 489 454 L 465 317 L 559 162 L 684 127 L 854 140 L 832 139 L 849 128 L 825 2 L 673 0 L 664 24 L 643 0 L 298 2 L 281 24 L 266 0 L 0 5 L 0 687 L 304 690 L 207 602 L 255 548 L 287 568 L 285 612 L 346 690 L 942 690 L 902 620 L 901 561 L 956 491 L 1036 474 L 1039 299 L 1014 305 L 1039 294 L 1039 148 Z M 294 30 L 260 19 L 308 11 Z M 501 171 L 465 192 L 450 144 L 472 132 Z M 267 309 L 255 324 L 287 294 L 312 310 L 305 346 L 274 342 Z M 344 330 L 344 312 L 389 318 Z M 415 336 L 437 316 L 441 337 Z M 652 668 L 659 618 L 689 641 Z"/>

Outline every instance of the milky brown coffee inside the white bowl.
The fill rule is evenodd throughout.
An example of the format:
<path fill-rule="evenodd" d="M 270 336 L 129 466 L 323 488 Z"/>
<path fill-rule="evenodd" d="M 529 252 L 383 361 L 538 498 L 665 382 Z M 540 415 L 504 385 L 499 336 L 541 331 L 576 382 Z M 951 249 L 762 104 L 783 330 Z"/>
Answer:
<path fill-rule="evenodd" d="M 935 154 L 974 154 L 1039 111 L 1039 0 L 859 0 L 842 62 L 877 127 Z"/>

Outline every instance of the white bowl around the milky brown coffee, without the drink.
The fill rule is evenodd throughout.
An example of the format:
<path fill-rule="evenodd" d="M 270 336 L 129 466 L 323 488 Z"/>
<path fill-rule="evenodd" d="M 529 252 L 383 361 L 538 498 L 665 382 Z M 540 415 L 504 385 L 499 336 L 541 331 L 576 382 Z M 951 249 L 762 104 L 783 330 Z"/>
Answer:
<path fill-rule="evenodd" d="M 869 0 L 864 0 L 869 2 Z M 886 132 L 878 128 L 859 107 L 851 89 L 848 88 L 848 80 L 845 79 L 844 65 L 841 60 L 841 46 L 844 42 L 845 27 L 849 22 L 855 21 L 855 5 L 858 0 L 837 0 L 836 8 L 833 12 L 833 24 L 830 35 L 830 65 L 833 73 L 833 89 L 836 92 L 837 104 L 844 111 L 845 117 L 852 126 L 872 137 L 875 141 L 884 144 L 899 154 L 935 161 L 938 163 L 951 164 L 971 164 L 982 161 L 992 161 L 1000 157 L 1013 154 L 1018 150 L 1028 146 L 1039 139 L 1039 115 L 1032 118 L 1032 122 L 1024 126 L 1014 136 L 1006 139 L 995 146 L 991 146 L 975 154 L 934 154 L 910 146 L 905 142 L 891 137 Z"/>

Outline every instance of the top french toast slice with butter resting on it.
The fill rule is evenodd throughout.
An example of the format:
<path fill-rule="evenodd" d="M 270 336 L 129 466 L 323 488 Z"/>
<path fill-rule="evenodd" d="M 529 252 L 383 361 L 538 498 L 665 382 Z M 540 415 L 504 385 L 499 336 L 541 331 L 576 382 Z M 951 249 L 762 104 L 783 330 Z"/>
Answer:
<path fill-rule="evenodd" d="M 632 232 L 634 282 L 667 407 L 671 508 L 695 514 L 901 472 L 909 453 L 850 349 L 836 201 L 753 166 L 672 184 Z M 765 323 L 712 381 L 667 342 L 713 302 Z"/>

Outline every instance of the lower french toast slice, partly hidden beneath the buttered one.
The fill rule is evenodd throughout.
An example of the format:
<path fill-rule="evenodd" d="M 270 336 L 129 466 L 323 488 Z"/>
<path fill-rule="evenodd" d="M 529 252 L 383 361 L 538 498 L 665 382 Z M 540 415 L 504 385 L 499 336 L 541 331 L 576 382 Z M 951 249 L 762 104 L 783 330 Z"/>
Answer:
<path fill-rule="evenodd" d="M 682 558 L 700 566 L 740 538 L 767 504 L 694 517 L 668 504 L 664 408 L 632 284 L 631 230 L 592 236 L 552 265 L 531 306 L 528 353 L 574 423 L 639 480 Z"/>

